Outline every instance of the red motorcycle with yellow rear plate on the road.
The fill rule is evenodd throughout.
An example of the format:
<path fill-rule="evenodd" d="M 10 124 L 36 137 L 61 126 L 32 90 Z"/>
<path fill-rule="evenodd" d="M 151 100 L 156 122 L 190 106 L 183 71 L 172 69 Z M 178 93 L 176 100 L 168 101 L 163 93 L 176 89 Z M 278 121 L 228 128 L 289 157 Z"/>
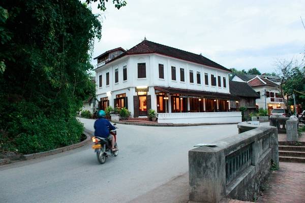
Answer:
<path fill-rule="evenodd" d="M 116 125 L 116 123 L 114 123 L 113 125 Z M 92 146 L 92 149 L 94 149 L 95 152 L 97 153 L 98 161 L 101 164 L 105 163 L 106 158 L 118 155 L 118 147 L 116 144 L 116 129 L 117 129 L 117 127 L 114 130 L 110 131 L 110 134 L 112 134 L 114 137 L 115 151 L 111 150 L 111 139 L 112 139 L 111 137 L 112 136 L 109 136 L 108 138 L 102 138 L 102 137 L 93 137 L 92 138 L 92 142 L 95 143 L 95 145 Z"/>

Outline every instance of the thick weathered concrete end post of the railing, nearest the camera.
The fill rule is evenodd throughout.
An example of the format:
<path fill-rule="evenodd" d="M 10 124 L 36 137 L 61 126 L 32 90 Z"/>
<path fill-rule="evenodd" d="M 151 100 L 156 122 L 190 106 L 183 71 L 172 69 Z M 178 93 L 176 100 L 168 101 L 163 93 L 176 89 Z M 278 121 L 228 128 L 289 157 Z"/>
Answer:
<path fill-rule="evenodd" d="M 226 194 L 224 151 L 201 149 L 189 151 L 190 200 L 218 203 Z"/>

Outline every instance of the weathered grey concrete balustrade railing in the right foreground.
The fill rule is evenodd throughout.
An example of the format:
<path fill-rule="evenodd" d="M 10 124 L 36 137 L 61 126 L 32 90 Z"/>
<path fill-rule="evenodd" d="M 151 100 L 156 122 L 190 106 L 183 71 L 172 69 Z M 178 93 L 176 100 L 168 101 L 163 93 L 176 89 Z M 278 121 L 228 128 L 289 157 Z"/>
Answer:
<path fill-rule="evenodd" d="M 279 165 L 278 130 L 261 126 L 221 140 L 216 147 L 189 151 L 190 200 L 220 202 L 223 198 L 252 201 Z"/>

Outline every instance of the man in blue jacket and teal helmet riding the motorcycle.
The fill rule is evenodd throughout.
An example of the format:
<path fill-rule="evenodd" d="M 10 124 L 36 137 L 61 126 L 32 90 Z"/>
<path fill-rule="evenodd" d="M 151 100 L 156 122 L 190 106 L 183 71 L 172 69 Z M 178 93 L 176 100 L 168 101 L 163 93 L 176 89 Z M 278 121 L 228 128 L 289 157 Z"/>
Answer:
<path fill-rule="evenodd" d="M 110 134 L 110 130 L 114 130 L 115 127 L 111 125 L 111 123 L 107 119 L 105 119 L 105 116 L 105 111 L 100 110 L 98 112 L 99 119 L 96 120 L 94 123 L 94 136 L 106 139 L 109 139 L 109 137 L 111 136 L 111 149 L 112 151 L 116 151 L 116 149 L 114 148 L 114 136 Z"/>

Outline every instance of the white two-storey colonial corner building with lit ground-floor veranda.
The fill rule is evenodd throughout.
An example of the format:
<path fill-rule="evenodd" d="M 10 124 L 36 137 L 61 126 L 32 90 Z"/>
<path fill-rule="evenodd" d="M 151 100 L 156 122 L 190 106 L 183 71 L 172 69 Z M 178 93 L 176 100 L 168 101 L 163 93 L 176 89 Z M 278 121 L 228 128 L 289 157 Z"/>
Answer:
<path fill-rule="evenodd" d="M 154 109 L 159 122 L 241 121 L 240 112 L 230 112 L 230 100 L 239 99 L 230 94 L 230 70 L 201 54 L 144 40 L 95 59 L 99 109 L 126 107 L 132 117 Z"/>

